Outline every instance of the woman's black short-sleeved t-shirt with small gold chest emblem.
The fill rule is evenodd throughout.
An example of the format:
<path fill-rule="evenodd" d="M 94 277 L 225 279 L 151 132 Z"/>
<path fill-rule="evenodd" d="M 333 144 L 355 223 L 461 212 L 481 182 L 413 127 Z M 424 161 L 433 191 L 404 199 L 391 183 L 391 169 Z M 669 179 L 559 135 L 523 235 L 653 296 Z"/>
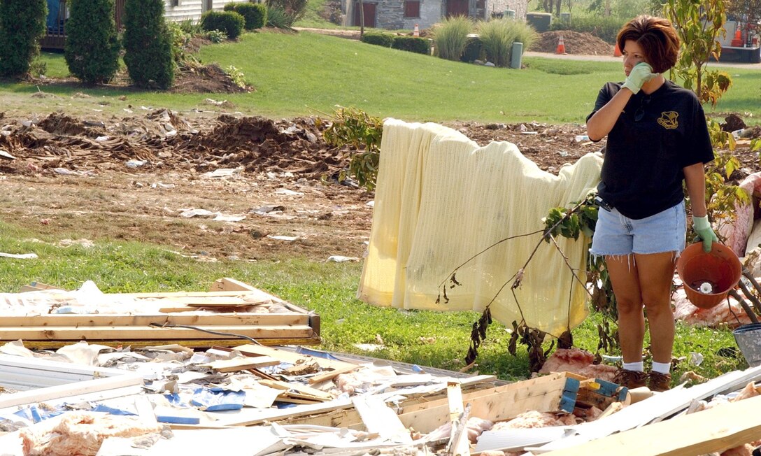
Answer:
<path fill-rule="evenodd" d="M 608 82 L 600 89 L 587 120 L 621 84 Z M 651 94 L 632 95 L 608 133 L 597 194 L 626 217 L 649 217 L 682 201 L 683 167 L 713 159 L 698 98 L 667 80 Z"/>

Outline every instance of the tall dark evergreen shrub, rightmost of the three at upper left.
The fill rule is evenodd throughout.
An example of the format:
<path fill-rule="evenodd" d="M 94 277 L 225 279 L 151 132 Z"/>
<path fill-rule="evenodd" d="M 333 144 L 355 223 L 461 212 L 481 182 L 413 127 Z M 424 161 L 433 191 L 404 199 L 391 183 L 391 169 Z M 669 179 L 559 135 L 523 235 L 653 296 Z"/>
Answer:
<path fill-rule="evenodd" d="M 172 35 L 164 21 L 163 0 L 127 0 L 123 43 L 124 63 L 135 85 L 162 89 L 172 86 Z"/>

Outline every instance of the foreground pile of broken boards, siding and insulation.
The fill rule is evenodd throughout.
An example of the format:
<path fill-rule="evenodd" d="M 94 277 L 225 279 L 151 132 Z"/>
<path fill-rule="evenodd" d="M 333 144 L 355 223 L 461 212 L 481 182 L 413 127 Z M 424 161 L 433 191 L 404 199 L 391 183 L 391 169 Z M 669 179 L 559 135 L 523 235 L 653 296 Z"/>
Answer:
<path fill-rule="evenodd" d="M 653 394 L 569 372 L 505 384 L 253 343 L 32 352 L 17 341 L 0 353 L 4 456 L 211 454 L 222 445 L 241 456 L 750 455 L 761 429 L 761 367 Z"/>

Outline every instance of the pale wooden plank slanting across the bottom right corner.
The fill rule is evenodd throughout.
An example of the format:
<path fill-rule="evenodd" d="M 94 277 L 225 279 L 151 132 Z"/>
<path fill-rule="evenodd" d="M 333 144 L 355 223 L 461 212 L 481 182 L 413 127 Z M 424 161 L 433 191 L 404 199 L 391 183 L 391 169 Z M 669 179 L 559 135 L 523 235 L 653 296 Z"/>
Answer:
<path fill-rule="evenodd" d="M 545 454 L 546 456 L 570 456 L 571 454 L 693 456 L 722 452 L 759 438 L 761 435 L 759 407 L 761 407 L 761 396 L 750 397 Z"/>

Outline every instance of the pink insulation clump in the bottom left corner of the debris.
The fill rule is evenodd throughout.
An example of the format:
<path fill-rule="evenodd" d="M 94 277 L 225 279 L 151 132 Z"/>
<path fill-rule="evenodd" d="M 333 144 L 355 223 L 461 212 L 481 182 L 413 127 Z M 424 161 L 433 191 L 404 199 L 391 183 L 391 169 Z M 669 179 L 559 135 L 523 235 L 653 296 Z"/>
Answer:
<path fill-rule="evenodd" d="M 140 423 L 128 416 L 103 413 L 67 413 L 53 423 L 21 429 L 24 456 L 95 456 L 109 437 L 137 437 L 161 432 L 161 426 Z"/>

